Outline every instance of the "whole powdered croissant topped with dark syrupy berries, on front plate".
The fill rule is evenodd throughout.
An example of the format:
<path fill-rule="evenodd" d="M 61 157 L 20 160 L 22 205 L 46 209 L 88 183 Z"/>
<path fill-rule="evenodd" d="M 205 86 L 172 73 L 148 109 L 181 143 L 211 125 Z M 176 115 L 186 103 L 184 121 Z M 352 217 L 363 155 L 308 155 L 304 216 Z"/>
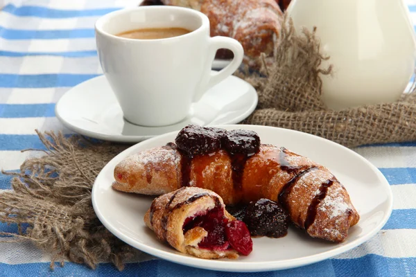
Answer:
<path fill-rule="evenodd" d="M 113 188 L 162 195 L 181 187 L 207 188 L 227 205 L 266 198 L 315 238 L 343 242 L 359 215 L 347 190 L 324 166 L 286 148 L 261 144 L 255 132 L 184 127 L 162 147 L 125 158 Z"/>

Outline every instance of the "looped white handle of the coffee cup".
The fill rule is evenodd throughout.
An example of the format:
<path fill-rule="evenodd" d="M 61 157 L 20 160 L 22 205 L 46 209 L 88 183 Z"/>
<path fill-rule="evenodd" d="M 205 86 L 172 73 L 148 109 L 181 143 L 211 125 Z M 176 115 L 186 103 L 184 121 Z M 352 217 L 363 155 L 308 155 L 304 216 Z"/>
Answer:
<path fill-rule="evenodd" d="M 234 54 L 234 58 L 223 69 L 221 69 L 217 73 L 212 73 L 211 64 L 212 62 L 214 62 L 216 52 L 220 48 L 226 48 L 232 51 L 232 53 Z M 208 89 L 214 87 L 214 85 L 225 80 L 225 78 L 227 78 L 229 75 L 232 75 L 232 73 L 234 73 L 234 71 L 236 71 L 239 68 L 241 62 L 243 62 L 243 56 L 243 46 L 241 46 L 240 42 L 238 42 L 236 39 L 232 39 L 231 37 L 220 36 L 209 37 L 209 52 L 207 59 L 207 62 L 209 62 L 209 66 L 206 66 L 207 68 L 209 68 L 209 72 L 204 74 L 207 77 L 205 78 L 205 80 L 202 80 L 200 89 L 196 91 L 196 94 L 193 97 L 193 102 L 198 102 L 202 98 L 204 93 L 207 92 Z"/>

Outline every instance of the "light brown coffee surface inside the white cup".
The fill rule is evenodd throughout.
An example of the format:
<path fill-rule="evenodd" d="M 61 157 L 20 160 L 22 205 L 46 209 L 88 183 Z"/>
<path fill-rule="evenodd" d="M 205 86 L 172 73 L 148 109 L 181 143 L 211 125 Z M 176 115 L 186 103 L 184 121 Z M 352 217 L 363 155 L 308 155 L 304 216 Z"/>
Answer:
<path fill-rule="evenodd" d="M 128 39 L 166 39 L 168 37 L 185 35 L 187 33 L 191 33 L 191 31 L 184 28 L 148 28 L 128 30 L 127 32 L 120 33 L 116 36 Z"/>

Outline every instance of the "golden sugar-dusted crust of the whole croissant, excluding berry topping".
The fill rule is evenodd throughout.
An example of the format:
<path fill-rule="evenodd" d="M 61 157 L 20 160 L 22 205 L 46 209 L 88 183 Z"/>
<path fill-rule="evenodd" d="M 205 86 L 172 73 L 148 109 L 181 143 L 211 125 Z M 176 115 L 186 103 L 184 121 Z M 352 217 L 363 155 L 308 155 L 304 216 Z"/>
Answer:
<path fill-rule="evenodd" d="M 177 150 L 166 146 L 134 154 L 114 169 L 113 188 L 169 193 L 182 186 L 182 159 Z M 229 154 L 219 150 L 191 160 L 186 185 L 213 190 L 225 204 L 261 198 L 279 202 L 296 226 L 333 242 L 343 242 L 349 227 L 360 218 L 347 190 L 327 168 L 285 148 L 261 145 L 245 162 L 241 187 L 234 186 L 232 174 Z"/>

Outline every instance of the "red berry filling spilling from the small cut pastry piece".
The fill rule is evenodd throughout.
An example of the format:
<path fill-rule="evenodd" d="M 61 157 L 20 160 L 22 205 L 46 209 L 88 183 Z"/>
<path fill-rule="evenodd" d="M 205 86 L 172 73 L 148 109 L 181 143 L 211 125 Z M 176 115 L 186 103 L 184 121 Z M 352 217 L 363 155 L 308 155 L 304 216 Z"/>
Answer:
<path fill-rule="evenodd" d="M 208 235 L 198 244 L 201 249 L 223 251 L 234 248 L 243 255 L 248 255 L 252 251 L 253 243 L 247 226 L 239 220 L 229 222 L 221 207 L 188 217 L 182 229 L 184 233 L 187 233 L 196 226 L 208 232 Z"/>

